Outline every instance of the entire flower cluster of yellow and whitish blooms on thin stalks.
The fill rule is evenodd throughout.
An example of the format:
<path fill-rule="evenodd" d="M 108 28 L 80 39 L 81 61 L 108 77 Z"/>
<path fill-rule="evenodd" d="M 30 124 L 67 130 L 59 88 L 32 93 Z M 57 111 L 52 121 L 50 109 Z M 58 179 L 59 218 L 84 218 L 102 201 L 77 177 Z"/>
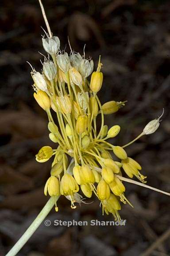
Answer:
<path fill-rule="evenodd" d="M 147 124 L 130 143 L 122 147 L 110 144 L 106 140 L 117 136 L 120 126 L 108 128 L 104 115 L 117 112 L 125 101 L 112 100 L 101 105 L 97 96 L 103 84 L 100 58 L 97 70 L 93 71 L 93 60 L 72 50 L 70 55 L 62 52 L 57 36 L 42 38 L 42 45 L 48 58 L 45 57 L 42 73 L 34 69 L 31 72 L 34 97 L 48 115 L 49 137 L 57 145 L 55 149 L 44 146 L 36 155 L 41 163 L 54 157 L 44 193 L 66 196 L 71 201 L 71 208 L 76 208 L 75 202 L 83 201 L 81 194 L 91 198 L 94 193 L 100 200 L 102 212 L 112 213 L 120 220 L 120 202 L 130 204 L 124 194 L 122 171 L 130 178 L 135 176 L 146 182 L 140 164 L 128 157 L 124 148 L 140 136 L 155 132 L 159 118 Z M 98 128 L 99 115 L 101 125 Z M 80 189 L 81 194 L 78 193 Z M 55 209 L 58 211 L 57 205 Z"/>

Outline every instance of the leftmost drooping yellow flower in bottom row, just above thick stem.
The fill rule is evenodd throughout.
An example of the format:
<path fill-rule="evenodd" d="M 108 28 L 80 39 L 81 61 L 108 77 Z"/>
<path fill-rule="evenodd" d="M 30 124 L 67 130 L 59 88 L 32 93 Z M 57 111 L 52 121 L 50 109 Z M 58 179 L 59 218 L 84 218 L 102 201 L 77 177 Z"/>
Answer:
<path fill-rule="evenodd" d="M 59 196 L 60 195 L 60 184 L 59 180 L 51 176 L 47 181 L 44 187 L 44 194 L 47 195 L 47 191 L 50 196 Z"/>

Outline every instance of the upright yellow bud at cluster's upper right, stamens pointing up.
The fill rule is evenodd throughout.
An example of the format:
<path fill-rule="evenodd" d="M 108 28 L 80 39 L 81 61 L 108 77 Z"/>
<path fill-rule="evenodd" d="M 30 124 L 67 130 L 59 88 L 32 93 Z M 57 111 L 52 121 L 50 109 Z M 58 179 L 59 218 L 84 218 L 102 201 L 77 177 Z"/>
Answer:
<path fill-rule="evenodd" d="M 103 73 L 93 72 L 90 80 L 90 89 L 92 92 L 99 92 L 103 83 Z"/>

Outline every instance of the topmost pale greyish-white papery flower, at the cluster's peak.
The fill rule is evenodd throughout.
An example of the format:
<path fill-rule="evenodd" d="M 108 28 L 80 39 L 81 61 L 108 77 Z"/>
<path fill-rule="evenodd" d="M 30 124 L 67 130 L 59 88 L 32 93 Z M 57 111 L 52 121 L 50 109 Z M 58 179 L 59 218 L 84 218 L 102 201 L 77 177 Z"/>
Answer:
<path fill-rule="evenodd" d="M 42 45 L 46 52 L 53 55 L 56 54 L 60 48 L 60 40 L 58 36 L 42 38 Z"/>

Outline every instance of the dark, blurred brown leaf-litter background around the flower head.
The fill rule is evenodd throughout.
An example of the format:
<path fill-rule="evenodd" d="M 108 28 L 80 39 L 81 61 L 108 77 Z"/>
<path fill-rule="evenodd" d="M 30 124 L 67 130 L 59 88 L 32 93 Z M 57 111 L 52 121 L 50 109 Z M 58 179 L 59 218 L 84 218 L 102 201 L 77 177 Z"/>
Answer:
<path fill-rule="evenodd" d="M 103 63 L 101 103 L 128 100 L 106 116 L 119 124 L 111 142 L 123 145 L 161 115 L 160 128 L 128 147 L 143 167 L 147 184 L 170 192 L 170 1 L 165 0 L 44 0 L 50 28 L 76 52 Z M 52 145 L 47 118 L 33 99 L 31 68 L 41 70 L 39 52 L 46 29 L 38 0 L 0 1 L 0 256 L 4 256 L 34 220 L 48 198 L 43 194 L 50 162 L 35 161 L 43 145 Z M 46 227 L 35 232 L 19 256 L 168 256 L 170 197 L 126 183 L 132 209 L 123 205 L 125 226 Z M 87 200 L 91 202 L 92 200 Z M 102 216 L 99 202 L 76 210 L 61 198 L 59 212 L 48 220 L 114 220 Z M 165 233 L 166 232 L 166 233 Z M 167 233 L 168 232 L 168 233 Z M 164 237 L 157 248 L 146 250 Z M 146 252 L 146 253 L 145 253 Z M 144 254 L 145 253 L 145 254 Z"/>

